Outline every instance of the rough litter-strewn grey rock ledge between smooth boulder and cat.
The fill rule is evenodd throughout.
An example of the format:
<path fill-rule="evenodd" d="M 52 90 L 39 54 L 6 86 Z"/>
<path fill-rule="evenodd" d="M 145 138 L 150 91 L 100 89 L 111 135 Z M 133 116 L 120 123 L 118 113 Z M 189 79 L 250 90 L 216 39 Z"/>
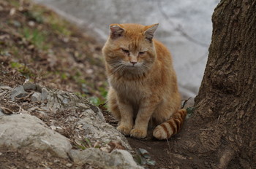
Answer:
<path fill-rule="evenodd" d="M 84 137 L 89 138 L 91 141 L 101 141 L 103 143 L 120 141 L 126 149 L 132 149 L 124 135 L 105 122 L 102 111 L 85 98 L 80 98 L 73 93 L 62 90 L 49 90 L 47 101 L 46 106 L 52 111 L 60 109 L 69 109 L 70 111 L 79 109 L 82 111 L 80 119 L 75 120 L 77 122 L 76 125 L 83 128 Z M 70 119 L 72 118 L 74 119 L 75 117 L 70 117 Z"/>

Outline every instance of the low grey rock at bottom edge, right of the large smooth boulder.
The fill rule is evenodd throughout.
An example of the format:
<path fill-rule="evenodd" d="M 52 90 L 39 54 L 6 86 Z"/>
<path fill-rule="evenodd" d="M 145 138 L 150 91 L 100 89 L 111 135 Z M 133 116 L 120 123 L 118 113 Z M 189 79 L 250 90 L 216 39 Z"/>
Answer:
<path fill-rule="evenodd" d="M 111 153 L 102 152 L 100 149 L 94 148 L 85 149 L 83 151 L 72 149 L 69 156 L 78 165 L 87 163 L 105 169 L 142 168 L 136 164 L 129 152 L 121 149 L 115 149 Z"/>

